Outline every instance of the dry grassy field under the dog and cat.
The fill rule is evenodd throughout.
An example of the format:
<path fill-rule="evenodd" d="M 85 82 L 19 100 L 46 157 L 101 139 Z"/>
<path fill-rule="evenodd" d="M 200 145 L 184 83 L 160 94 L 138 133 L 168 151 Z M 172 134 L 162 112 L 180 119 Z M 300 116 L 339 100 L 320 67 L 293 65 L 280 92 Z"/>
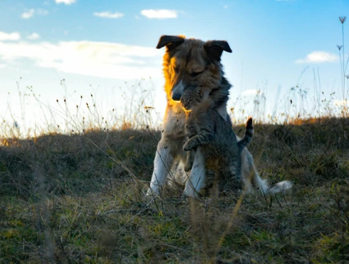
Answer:
<path fill-rule="evenodd" d="M 194 200 L 145 198 L 157 130 L 3 138 L 0 263 L 348 263 L 348 127 L 256 124 L 261 177 L 293 190 Z"/>

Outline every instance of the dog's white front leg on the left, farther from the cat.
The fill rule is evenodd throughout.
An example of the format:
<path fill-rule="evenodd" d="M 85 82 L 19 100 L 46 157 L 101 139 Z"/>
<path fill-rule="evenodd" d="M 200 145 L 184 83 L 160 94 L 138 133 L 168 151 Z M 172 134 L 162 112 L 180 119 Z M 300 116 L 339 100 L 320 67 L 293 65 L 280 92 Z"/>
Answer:
<path fill-rule="evenodd" d="M 153 193 L 160 193 L 160 188 L 165 184 L 172 162 L 173 157 L 170 154 L 170 144 L 167 144 L 167 141 L 160 141 L 157 144 L 154 171 L 152 172 L 152 181 L 150 181 L 150 188 L 147 191 L 147 196 Z"/>

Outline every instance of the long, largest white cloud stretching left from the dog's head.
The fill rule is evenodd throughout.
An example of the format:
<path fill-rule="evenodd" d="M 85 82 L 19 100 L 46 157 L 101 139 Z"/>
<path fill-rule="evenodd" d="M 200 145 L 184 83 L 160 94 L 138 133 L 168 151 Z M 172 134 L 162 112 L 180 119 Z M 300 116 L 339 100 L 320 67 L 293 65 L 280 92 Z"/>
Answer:
<path fill-rule="evenodd" d="M 7 63 L 31 59 L 41 68 L 103 78 L 158 78 L 162 76 L 161 55 L 162 51 L 154 48 L 108 42 L 0 42 L 0 59 Z M 152 66 L 155 61 L 156 66 Z"/>

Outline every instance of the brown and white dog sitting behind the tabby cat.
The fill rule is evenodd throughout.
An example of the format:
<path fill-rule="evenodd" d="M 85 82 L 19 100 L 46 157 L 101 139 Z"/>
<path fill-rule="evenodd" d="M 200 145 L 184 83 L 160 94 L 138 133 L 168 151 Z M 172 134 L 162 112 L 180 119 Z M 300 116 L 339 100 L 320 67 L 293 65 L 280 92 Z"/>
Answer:
<path fill-rule="evenodd" d="M 158 195 L 166 180 L 171 175 L 172 181 L 185 183 L 184 195 L 197 197 L 205 186 L 205 160 L 199 149 L 195 151 L 192 170 L 187 176 L 183 167 L 187 153 L 182 149 L 185 143 L 184 123 L 186 114 L 179 102 L 182 93 L 189 87 L 202 86 L 203 96 L 212 101 L 212 108 L 231 124 L 226 111 L 231 84 L 224 77 L 221 56 L 223 51 L 231 53 L 226 41 L 202 41 L 186 39 L 185 36 L 161 36 L 157 49 L 166 47 L 163 56 L 163 73 L 167 108 L 162 125 L 162 135 L 155 153 L 154 171 L 147 190 L 147 196 Z M 175 173 L 170 173 L 175 171 Z M 246 183 L 247 191 L 258 189 L 262 193 L 274 193 L 291 188 L 291 183 L 281 182 L 269 188 L 262 180 L 254 166 L 251 153 L 244 148 L 241 151 L 242 178 L 251 181 Z"/>

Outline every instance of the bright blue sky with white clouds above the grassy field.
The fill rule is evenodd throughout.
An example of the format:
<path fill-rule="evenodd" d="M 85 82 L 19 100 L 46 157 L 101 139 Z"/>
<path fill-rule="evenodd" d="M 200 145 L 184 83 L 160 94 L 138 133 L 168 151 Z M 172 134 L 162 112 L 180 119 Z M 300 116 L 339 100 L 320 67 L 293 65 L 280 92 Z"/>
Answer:
<path fill-rule="evenodd" d="M 63 113 L 57 99 L 71 112 L 94 100 L 107 115 L 144 98 L 161 121 L 165 49 L 155 46 L 163 34 L 228 41 L 233 53 L 222 64 L 234 86 L 233 119 L 306 116 L 318 107 L 314 98 L 335 92 L 330 103 L 343 100 L 338 17 L 348 11 L 348 0 L 1 0 L 0 118 L 27 129 L 43 122 L 42 111 Z"/>

